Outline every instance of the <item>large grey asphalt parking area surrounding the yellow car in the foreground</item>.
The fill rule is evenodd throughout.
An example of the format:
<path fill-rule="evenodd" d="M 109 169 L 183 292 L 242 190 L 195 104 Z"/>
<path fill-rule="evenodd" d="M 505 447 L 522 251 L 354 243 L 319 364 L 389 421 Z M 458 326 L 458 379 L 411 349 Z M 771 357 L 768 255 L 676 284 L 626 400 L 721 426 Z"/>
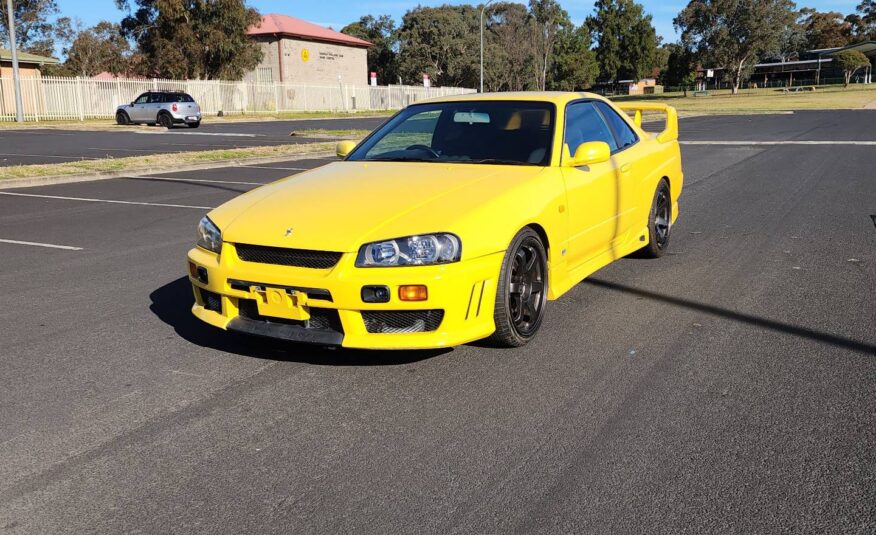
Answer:
<path fill-rule="evenodd" d="M 873 124 L 682 121 L 672 253 L 516 350 L 191 316 L 198 219 L 330 160 L 2 190 L 0 531 L 876 532 Z"/>

